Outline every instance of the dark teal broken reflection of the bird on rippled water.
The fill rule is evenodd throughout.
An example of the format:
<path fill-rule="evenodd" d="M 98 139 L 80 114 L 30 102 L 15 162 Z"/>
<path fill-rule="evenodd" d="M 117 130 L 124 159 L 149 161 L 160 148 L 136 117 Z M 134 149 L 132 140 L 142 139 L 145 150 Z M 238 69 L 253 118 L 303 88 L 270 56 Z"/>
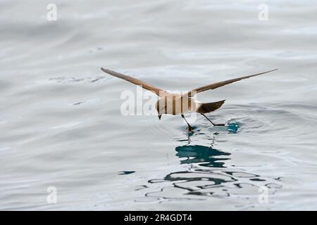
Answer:
<path fill-rule="evenodd" d="M 210 197 L 235 198 L 239 207 L 239 204 L 245 206 L 245 201 L 251 199 L 251 204 L 259 204 L 261 190 L 273 194 L 282 187 L 278 184 L 280 178 L 265 178 L 234 165 L 227 167 L 225 163 L 230 161 L 231 153 L 217 150 L 212 144 L 191 145 L 189 140 L 186 145 L 176 147 L 175 151 L 180 164 L 188 165 L 188 168 L 171 172 L 163 179 L 149 180 L 145 193 L 147 198 L 159 200 L 159 203 L 208 200 Z"/>

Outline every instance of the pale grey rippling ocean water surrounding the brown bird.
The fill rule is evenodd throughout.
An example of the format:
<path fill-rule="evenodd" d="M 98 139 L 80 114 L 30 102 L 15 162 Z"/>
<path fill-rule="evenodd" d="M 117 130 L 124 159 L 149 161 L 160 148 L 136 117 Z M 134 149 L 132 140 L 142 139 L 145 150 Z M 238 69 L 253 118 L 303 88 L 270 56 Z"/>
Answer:
<path fill-rule="evenodd" d="M 0 1 L 0 210 L 317 210 L 316 1 Z M 133 84 L 227 99 L 123 115 Z M 146 91 L 144 91 L 146 92 Z M 136 102 L 142 108 L 142 101 Z"/>

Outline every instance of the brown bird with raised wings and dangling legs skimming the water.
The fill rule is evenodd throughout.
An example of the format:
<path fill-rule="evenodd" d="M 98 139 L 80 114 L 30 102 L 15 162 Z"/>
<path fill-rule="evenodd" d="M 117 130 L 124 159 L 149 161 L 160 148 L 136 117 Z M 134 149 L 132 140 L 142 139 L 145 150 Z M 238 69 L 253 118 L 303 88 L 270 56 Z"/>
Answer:
<path fill-rule="evenodd" d="M 106 72 L 108 75 L 112 75 L 113 77 L 118 77 L 120 79 L 125 79 L 126 81 L 131 82 L 132 84 L 139 85 L 142 88 L 153 92 L 154 94 L 160 97 L 159 101 L 156 102 L 156 110 L 159 113 L 159 120 L 161 120 L 161 117 L 163 114 L 181 115 L 188 125 L 188 131 L 193 131 L 193 127 L 187 122 L 184 116 L 184 113 L 200 113 L 207 120 L 209 120 L 209 118 L 206 117 L 205 114 L 211 113 L 217 110 L 223 105 L 223 103 L 225 103 L 225 100 L 214 102 L 214 103 L 201 103 L 193 98 L 194 95 L 202 91 L 207 91 L 210 89 L 218 89 L 218 87 L 220 86 L 225 86 L 227 84 L 231 84 L 233 82 L 237 82 L 242 79 L 247 79 L 250 77 L 263 75 L 265 73 L 273 72 L 278 69 L 269 70 L 266 72 L 260 72 L 254 75 L 248 75 L 248 76 L 239 77 L 235 79 L 228 79 L 224 82 L 216 82 L 213 84 L 208 84 L 205 86 L 201 86 L 197 89 L 193 89 L 192 91 L 189 91 L 186 94 L 173 94 L 168 91 L 164 91 L 163 89 L 159 89 L 155 86 L 152 86 L 151 84 L 147 84 L 146 82 L 142 82 L 139 79 L 130 77 L 128 75 L 123 75 L 122 73 L 115 72 L 113 70 L 104 69 L 104 68 L 101 68 L 101 70 Z M 214 124 L 211 120 L 209 120 L 209 122 L 211 122 L 213 126 L 225 126 L 225 124 Z"/>

